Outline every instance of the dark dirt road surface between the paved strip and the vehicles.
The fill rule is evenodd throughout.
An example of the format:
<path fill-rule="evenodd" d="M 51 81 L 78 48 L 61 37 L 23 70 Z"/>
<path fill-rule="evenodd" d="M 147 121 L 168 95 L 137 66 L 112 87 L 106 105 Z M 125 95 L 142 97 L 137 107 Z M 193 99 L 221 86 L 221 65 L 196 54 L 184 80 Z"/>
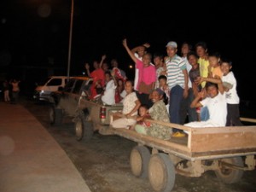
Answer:
<path fill-rule="evenodd" d="M 137 178 L 131 173 L 129 156 L 137 143 L 123 137 L 102 136 L 95 133 L 90 142 L 77 142 L 73 122 L 67 120 L 61 126 L 50 126 L 48 105 L 35 105 L 24 101 L 31 111 L 55 137 L 69 158 L 78 168 L 92 192 L 151 192 L 147 179 Z M 205 172 L 201 177 L 176 175 L 173 192 L 255 192 L 256 171 L 244 172 L 241 181 L 225 184 L 214 172 Z"/>

